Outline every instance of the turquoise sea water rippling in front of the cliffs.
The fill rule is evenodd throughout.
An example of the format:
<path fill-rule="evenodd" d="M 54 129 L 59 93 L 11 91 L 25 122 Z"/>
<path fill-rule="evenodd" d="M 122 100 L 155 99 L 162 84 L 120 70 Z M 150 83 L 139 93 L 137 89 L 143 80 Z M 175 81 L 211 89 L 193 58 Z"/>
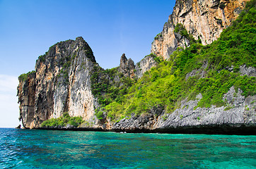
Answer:
<path fill-rule="evenodd" d="M 0 168 L 256 168 L 256 136 L 0 129 Z"/>

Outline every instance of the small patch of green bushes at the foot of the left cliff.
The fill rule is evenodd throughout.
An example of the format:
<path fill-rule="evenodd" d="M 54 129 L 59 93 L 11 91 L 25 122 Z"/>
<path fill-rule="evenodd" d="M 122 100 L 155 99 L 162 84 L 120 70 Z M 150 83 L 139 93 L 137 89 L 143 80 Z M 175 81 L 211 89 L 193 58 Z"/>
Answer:
<path fill-rule="evenodd" d="M 63 115 L 59 118 L 51 118 L 49 120 L 45 120 L 41 127 L 65 127 L 67 124 L 73 125 L 74 127 L 78 127 L 83 123 L 83 118 L 81 116 L 78 117 L 70 117 L 68 112 L 63 113 Z"/>

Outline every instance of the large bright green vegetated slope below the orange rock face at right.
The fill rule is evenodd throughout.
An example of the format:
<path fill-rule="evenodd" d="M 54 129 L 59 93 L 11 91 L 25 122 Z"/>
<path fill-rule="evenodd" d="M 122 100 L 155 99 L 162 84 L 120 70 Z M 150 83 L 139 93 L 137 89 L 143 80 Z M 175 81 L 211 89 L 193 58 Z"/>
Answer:
<path fill-rule="evenodd" d="M 144 73 L 141 79 L 127 86 L 127 92 L 116 101 L 102 104 L 102 111 L 112 120 L 124 118 L 131 113 L 148 113 L 163 108 L 172 113 L 180 108 L 180 101 L 196 99 L 202 94 L 199 107 L 226 106 L 223 94 L 230 87 L 242 89 L 244 96 L 256 94 L 256 78 L 240 75 L 240 66 L 256 67 L 255 0 L 248 2 L 240 17 L 210 45 L 192 43 L 187 49 L 178 49 L 168 61 Z M 176 32 L 186 34 L 182 25 Z M 102 84 L 104 85 L 104 84 Z M 110 96 L 120 96 L 106 88 Z M 100 96 L 100 95 L 98 95 Z"/>

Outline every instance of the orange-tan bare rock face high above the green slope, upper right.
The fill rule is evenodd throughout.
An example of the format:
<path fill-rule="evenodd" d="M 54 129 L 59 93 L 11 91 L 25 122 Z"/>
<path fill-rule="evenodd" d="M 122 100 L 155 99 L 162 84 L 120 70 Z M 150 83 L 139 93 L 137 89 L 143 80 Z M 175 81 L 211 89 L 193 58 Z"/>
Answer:
<path fill-rule="evenodd" d="M 238 17 L 246 1 L 249 0 L 176 0 L 163 31 L 152 43 L 151 53 L 167 59 L 178 47 L 190 46 L 189 39 L 174 32 L 178 23 L 194 39 L 201 39 L 204 45 L 211 44 Z"/>

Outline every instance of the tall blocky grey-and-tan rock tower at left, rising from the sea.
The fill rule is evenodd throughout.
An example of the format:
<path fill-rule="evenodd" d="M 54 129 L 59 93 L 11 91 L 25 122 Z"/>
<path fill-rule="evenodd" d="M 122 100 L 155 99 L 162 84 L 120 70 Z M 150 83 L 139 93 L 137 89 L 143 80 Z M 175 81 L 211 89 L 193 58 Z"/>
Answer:
<path fill-rule="evenodd" d="M 82 37 L 59 42 L 40 56 L 35 72 L 20 81 L 18 97 L 24 127 L 39 127 L 64 112 L 93 120 L 95 98 L 90 72 L 95 65 L 90 46 Z"/>

